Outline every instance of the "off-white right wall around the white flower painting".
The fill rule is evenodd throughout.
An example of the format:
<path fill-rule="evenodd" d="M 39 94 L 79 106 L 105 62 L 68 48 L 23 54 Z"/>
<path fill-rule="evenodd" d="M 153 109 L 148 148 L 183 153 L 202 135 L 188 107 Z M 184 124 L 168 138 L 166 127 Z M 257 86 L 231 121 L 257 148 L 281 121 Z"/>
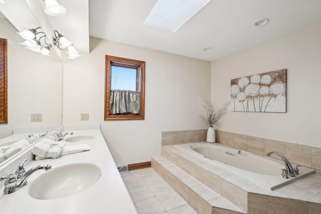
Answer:
<path fill-rule="evenodd" d="M 287 69 L 287 112 L 231 112 L 220 130 L 321 147 L 321 22 L 212 62 L 211 100 L 230 100 L 230 80 Z"/>

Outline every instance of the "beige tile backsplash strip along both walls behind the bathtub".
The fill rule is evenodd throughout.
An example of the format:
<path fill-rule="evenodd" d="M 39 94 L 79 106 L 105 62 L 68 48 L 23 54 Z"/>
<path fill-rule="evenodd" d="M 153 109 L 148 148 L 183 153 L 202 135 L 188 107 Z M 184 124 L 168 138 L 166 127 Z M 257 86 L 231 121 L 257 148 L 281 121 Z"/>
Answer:
<path fill-rule="evenodd" d="M 162 132 L 162 146 L 206 141 L 206 131 L 201 129 Z M 321 148 L 318 147 L 220 130 L 215 130 L 215 135 L 217 143 L 261 155 L 266 155 L 270 151 L 276 151 L 283 154 L 291 163 L 321 170 Z M 271 154 L 270 157 L 281 159 L 275 154 Z"/>

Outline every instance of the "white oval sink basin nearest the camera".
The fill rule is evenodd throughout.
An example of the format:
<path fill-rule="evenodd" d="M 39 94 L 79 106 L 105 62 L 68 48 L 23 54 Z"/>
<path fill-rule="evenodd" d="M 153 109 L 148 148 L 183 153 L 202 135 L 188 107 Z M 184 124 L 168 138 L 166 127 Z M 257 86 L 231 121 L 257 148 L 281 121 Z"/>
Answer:
<path fill-rule="evenodd" d="M 56 199 L 81 192 L 95 184 L 100 168 L 91 163 L 74 163 L 52 168 L 33 181 L 28 189 L 36 199 Z"/>

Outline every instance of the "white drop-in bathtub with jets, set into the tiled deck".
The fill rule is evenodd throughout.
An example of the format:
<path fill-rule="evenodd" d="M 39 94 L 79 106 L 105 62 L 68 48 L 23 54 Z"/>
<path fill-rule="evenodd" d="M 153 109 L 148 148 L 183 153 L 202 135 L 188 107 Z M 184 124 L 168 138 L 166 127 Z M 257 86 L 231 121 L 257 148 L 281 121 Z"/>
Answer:
<path fill-rule="evenodd" d="M 285 179 L 280 176 L 280 169 L 285 168 L 283 161 L 235 149 L 234 147 L 219 143 L 187 143 L 176 145 L 176 147 L 205 157 L 209 161 L 213 161 L 216 165 L 226 168 L 269 190 L 279 188 L 303 176 L 315 173 L 311 168 L 300 166 L 298 175 L 295 177 L 289 176 Z"/>

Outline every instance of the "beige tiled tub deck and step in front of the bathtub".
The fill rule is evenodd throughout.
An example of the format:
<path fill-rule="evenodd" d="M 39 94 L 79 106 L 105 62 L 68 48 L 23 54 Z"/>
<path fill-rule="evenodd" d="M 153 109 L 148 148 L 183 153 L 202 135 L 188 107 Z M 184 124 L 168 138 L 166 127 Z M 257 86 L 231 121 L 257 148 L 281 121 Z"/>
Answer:
<path fill-rule="evenodd" d="M 320 171 L 270 191 L 175 146 L 151 165 L 199 213 L 321 213 Z"/>

